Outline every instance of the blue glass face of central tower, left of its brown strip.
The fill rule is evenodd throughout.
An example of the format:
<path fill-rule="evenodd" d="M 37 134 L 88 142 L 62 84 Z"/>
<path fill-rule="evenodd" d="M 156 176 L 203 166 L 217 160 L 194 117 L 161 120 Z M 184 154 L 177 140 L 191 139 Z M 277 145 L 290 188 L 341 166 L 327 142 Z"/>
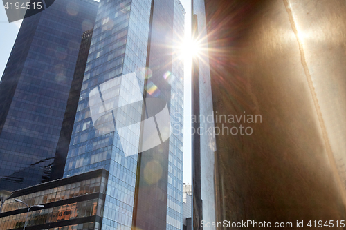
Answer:
<path fill-rule="evenodd" d="M 87 98 L 103 82 L 134 72 L 143 92 L 144 76 L 138 75 L 146 65 L 150 8 L 151 1 L 100 1 L 93 30 L 64 176 L 109 170 L 102 229 L 131 229 L 137 155 L 125 156 L 129 142 L 121 145 L 118 132 L 93 126 Z M 125 112 L 117 119 L 128 116 Z"/>

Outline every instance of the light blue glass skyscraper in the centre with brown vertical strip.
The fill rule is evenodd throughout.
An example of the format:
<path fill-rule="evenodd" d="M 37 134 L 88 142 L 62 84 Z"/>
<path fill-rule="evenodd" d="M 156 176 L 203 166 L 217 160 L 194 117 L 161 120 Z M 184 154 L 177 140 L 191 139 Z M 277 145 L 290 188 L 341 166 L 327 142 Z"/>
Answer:
<path fill-rule="evenodd" d="M 64 177 L 109 171 L 102 229 L 182 227 L 184 13 L 100 1 Z"/>

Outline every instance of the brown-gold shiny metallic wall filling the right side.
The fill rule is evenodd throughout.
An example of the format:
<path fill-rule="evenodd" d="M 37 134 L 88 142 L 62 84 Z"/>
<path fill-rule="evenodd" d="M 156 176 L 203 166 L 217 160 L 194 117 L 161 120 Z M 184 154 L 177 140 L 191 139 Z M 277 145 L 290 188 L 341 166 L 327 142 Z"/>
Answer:
<path fill-rule="evenodd" d="M 194 10 L 208 37 L 199 102 L 214 114 L 217 222 L 345 219 L 345 2 L 194 0 Z"/>

